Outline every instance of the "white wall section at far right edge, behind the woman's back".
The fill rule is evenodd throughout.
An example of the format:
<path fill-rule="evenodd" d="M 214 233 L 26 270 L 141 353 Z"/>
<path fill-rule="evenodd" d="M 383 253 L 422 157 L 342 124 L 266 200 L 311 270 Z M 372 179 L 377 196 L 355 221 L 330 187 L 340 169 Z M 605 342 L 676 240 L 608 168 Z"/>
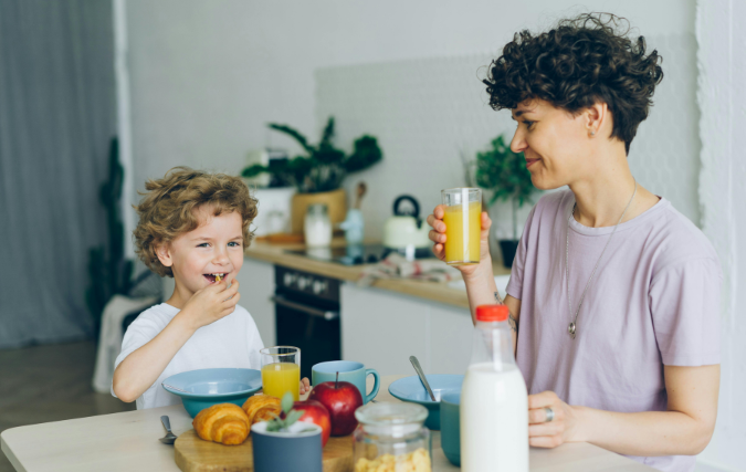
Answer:
<path fill-rule="evenodd" d="M 742 275 L 746 269 L 746 31 L 737 23 L 743 18 L 743 1 L 697 4 L 702 222 L 725 276 L 719 412 L 715 436 L 701 461 L 734 471 L 746 471 L 746 279 Z"/>

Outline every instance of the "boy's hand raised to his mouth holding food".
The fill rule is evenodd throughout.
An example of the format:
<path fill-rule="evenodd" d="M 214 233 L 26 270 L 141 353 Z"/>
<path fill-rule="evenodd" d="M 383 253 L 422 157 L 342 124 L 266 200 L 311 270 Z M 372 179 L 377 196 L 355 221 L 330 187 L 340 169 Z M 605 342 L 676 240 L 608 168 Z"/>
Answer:
<path fill-rule="evenodd" d="M 222 280 L 195 292 L 179 315 L 188 317 L 197 331 L 233 313 L 240 298 L 239 281 L 232 280 L 229 287 Z"/>

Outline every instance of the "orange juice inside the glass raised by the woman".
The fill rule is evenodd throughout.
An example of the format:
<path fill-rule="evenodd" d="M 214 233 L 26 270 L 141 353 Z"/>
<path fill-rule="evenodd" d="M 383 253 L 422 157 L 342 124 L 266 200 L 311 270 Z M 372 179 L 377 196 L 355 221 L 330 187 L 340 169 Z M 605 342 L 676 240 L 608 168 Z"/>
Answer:
<path fill-rule="evenodd" d="M 445 207 L 445 262 L 450 265 L 480 263 L 480 234 L 482 232 L 482 203 L 469 202 L 469 211 L 464 207 L 453 204 Z"/>

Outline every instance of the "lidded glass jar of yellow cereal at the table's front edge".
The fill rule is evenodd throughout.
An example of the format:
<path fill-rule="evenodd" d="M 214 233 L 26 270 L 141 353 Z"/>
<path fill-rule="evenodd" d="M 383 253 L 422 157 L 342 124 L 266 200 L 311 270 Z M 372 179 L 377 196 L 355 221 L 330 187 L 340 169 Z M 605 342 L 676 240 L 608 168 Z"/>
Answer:
<path fill-rule="evenodd" d="M 355 411 L 355 472 L 432 472 L 428 410 L 417 403 L 370 402 Z"/>

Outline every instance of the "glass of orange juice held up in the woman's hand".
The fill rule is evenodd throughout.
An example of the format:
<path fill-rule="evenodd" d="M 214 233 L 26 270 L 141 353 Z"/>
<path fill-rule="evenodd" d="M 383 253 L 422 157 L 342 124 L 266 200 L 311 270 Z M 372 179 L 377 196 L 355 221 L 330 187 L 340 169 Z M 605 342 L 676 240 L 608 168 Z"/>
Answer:
<path fill-rule="evenodd" d="M 453 188 L 441 190 L 445 207 L 445 263 L 469 265 L 480 263 L 482 232 L 482 190 Z"/>

